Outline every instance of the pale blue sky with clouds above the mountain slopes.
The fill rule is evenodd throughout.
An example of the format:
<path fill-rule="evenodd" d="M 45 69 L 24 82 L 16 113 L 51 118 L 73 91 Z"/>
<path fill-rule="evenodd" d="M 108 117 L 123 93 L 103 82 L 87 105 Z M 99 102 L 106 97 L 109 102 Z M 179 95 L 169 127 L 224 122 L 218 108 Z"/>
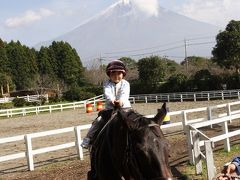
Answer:
<path fill-rule="evenodd" d="M 29 47 L 63 35 L 119 0 L 1 0 L 0 38 Z M 122 0 L 156 12 L 159 5 L 224 29 L 240 20 L 240 0 Z"/>

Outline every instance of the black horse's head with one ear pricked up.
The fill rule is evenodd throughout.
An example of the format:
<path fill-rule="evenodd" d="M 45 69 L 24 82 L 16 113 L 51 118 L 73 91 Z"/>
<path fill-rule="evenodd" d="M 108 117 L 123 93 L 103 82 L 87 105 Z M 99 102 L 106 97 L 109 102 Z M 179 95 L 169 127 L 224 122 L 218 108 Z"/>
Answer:
<path fill-rule="evenodd" d="M 154 118 L 146 118 L 134 111 L 120 111 L 128 129 L 129 152 L 132 157 L 129 173 L 134 179 L 171 179 L 168 163 L 169 144 L 160 125 L 167 113 L 166 104 Z"/>

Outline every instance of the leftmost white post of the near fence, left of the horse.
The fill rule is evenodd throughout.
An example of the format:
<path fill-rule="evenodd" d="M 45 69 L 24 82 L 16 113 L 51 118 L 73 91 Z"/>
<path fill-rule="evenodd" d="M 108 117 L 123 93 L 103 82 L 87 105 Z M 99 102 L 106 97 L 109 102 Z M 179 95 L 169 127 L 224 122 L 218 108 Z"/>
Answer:
<path fill-rule="evenodd" d="M 32 154 L 32 138 L 29 134 L 24 136 L 25 144 L 26 144 L 26 157 L 27 157 L 27 163 L 28 163 L 28 170 L 33 171 L 34 170 L 34 164 L 33 164 L 33 154 Z"/>

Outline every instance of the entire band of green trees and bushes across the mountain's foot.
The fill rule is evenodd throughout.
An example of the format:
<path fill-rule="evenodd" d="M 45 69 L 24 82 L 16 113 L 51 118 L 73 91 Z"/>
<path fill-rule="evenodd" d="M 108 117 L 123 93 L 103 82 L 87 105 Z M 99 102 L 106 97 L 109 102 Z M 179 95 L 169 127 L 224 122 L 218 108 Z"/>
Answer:
<path fill-rule="evenodd" d="M 180 64 L 166 57 L 134 60 L 122 57 L 128 68 L 131 94 L 240 88 L 240 21 L 230 21 L 216 37 L 213 58 L 187 57 Z M 55 42 L 40 50 L 0 39 L 0 86 L 10 91 L 58 89 L 66 99 L 80 100 L 102 93 L 106 65 L 83 67 L 76 50 Z"/>

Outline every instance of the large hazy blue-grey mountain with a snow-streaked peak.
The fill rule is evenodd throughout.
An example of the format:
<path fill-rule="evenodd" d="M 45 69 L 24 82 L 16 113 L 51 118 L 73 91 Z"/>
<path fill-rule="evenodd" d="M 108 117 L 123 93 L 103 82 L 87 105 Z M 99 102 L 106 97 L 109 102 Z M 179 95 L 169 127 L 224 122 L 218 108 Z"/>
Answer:
<path fill-rule="evenodd" d="M 180 62 L 185 56 L 211 56 L 219 30 L 160 6 L 148 11 L 131 0 L 122 0 L 53 40 L 71 44 L 83 64 L 100 56 L 108 61 L 123 56 L 137 60 L 159 55 Z"/>

